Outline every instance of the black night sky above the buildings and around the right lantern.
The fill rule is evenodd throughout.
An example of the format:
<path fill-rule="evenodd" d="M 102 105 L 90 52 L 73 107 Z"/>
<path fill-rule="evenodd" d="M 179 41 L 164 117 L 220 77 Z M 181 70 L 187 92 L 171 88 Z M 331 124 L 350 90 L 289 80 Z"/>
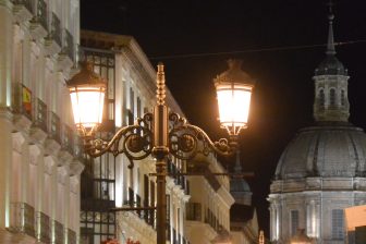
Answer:
<path fill-rule="evenodd" d="M 212 78 L 225 60 L 243 60 L 257 81 L 242 164 L 254 171 L 259 224 L 269 230 L 266 197 L 276 164 L 301 127 L 313 123 L 314 70 L 328 34 L 321 0 L 81 0 L 82 28 L 132 35 L 151 63 L 166 64 L 167 84 L 192 124 L 212 138 L 219 129 Z M 334 5 L 338 58 L 349 69 L 350 121 L 366 127 L 366 1 Z M 229 52 L 229 53 L 228 53 Z"/>

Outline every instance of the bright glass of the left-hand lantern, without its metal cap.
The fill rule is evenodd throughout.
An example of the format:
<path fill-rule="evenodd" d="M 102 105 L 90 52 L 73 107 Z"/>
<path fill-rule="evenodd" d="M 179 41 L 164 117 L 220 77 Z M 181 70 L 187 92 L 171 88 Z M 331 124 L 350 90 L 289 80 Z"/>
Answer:
<path fill-rule="evenodd" d="M 76 125 L 91 129 L 101 123 L 105 90 L 100 87 L 70 88 Z"/>

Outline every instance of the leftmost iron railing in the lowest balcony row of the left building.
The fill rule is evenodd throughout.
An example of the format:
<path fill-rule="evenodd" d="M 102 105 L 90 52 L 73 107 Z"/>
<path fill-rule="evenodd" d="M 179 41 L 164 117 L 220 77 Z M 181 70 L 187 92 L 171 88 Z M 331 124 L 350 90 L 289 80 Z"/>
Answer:
<path fill-rule="evenodd" d="M 11 230 L 35 236 L 35 210 L 26 203 L 11 204 Z"/>

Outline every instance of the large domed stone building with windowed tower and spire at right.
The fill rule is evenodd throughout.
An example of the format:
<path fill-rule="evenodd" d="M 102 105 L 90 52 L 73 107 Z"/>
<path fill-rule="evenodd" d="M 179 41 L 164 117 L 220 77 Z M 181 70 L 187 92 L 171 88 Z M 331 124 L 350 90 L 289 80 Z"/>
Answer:
<path fill-rule="evenodd" d="M 349 122 L 349 75 L 335 57 L 333 17 L 326 59 L 315 70 L 315 124 L 284 149 L 270 185 L 273 243 L 298 229 L 316 243 L 344 243 L 344 209 L 366 203 L 366 134 Z"/>

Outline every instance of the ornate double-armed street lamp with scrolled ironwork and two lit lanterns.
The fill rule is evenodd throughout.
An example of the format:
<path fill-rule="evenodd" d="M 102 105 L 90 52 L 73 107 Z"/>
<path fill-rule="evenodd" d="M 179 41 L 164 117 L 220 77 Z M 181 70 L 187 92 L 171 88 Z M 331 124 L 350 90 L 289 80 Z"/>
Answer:
<path fill-rule="evenodd" d="M 237 61 L 229 61 L 229 71 L 215 78 L 221 126 L 229 132 L 229 141 L 211 142 L 199 127 L 188 124 L 166 105 L 166 78 L 163 65 L 158 64 L 157 103 L 152 113 L 145 113 L 135 124 L 121 127 L 106 142 L 95 138 L 101 123 L 106 82 L 93 72 L 86 62 L 80 73 L 68 81 L 75 124 L 83 138 L 85 151 L 91 157 L 105 152 L 124 154 L 133 167 L 134 160 L 151 155 L 156 159 L 157 176 L 157 243 L 166 244 L 166 175 L 168 155 L 182 160 L 193 159 L 197 154 L 215 151 L 232 155 L 237 147 L 237 134 L 246 127 L 253 83 L 241 71 Z M 244 109 L 242 109 L 244 108 Z"/>

